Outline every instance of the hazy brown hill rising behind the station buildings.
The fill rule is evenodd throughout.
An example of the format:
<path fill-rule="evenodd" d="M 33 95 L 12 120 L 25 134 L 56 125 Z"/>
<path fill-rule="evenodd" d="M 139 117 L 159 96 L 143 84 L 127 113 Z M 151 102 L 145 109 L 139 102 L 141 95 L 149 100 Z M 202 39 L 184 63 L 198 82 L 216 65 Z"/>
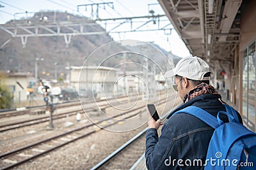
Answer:
<path fill-rule="evenodd" d="M 87 20 L 87 18 L 69 13 L 40 11 L 35 13 L 31 18 L 15 21 L 11 20 L 6 24 L 13 24 L 13 22 L 18 24 L 29 24 L 44 20 L 44 17 L 47 17 L 47 22 L 78 19 Z M 98 24 L 88 25 L 85 29 L 88 31 L 104 31 Z M 2 29 L 0 29 L 0 35 L 0 46 L 11 38 L 10 34 Z M 36 58 L 44 58 L 43 61 L 38 61 L 38 77 L 47 79 L 54 78 L 54 64 L 56 64 L 56 68 L 58 69 L 58 77 L 61 76 L 61 73 L 64 73 L 65 76 L 65 74 L 68 74 L 68 70 L 65 69 L 65 67 L 83 66 L 84 60 L 93 52 L 93 50 L 110 41 L 113 41 L 113 38 L 107 33 L 90 36 L 72 36 L 70 45 L 66 48 L 63 36 L 29 37 L 26 48 L 22 48 L 20 38 L 12 38 L 9 43 L 4 45 L 3 48 L 0 48 L 0 70 L 5 72 L 25 72 L 30 73 L 33 76 L 35 73 Z M 130 48 L 139 50 L 138 47 Z M 102 51 L 102 55 L 109 55 L 109 53 L 112 53 L 111 50 L 114 52 L 115 50 L 120 51 L 125 49 L 123 46 L 116 44 L 115 49 L 112 48 Z M 168 52 L 163 49 L 161 50 L 165 55 L 168 55 Z M 106 62 L 105 66 L 115 66 L 118 62 L 120 62 L 118 59 Z M 99 64 L 99 59 L 95 57 L 90 64 Z M 49 73 L 49 76 L 46 76 L 45 73 Z"/>

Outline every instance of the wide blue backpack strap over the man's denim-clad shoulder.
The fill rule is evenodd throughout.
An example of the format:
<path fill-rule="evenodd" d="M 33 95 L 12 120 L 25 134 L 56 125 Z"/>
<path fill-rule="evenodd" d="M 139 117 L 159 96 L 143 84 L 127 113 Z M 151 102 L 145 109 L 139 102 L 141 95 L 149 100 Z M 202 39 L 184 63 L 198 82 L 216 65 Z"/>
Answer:
<path fill-rule="evenodd" d="M 189 115 L 193 115 L 214 129 L 220 126 L 216 117 L 212 116 L 207 111 L 202 110 L 201 108 L 198 108 L 196 106 L 188 106 L 182 110 L 175 112 L 173 115 L 176 115 L 178 113 L 188 113 Z"/>

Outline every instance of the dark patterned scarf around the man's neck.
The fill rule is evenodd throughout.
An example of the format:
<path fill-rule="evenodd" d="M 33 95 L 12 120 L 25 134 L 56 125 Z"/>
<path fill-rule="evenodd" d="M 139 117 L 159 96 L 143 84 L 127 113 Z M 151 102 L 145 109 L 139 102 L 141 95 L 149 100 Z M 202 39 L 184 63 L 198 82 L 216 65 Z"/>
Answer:
<path fill-rule="evenodd" d="M 207 85 L 206 83 L 200 83 L 194 89 L 190 90 L 183 99 L 183 103 L 187 103 L 189 100 L 194 99 L 202 94 L 216 94 L 221 99 L 221 95 L 217 92 L 212 85 Z"/>

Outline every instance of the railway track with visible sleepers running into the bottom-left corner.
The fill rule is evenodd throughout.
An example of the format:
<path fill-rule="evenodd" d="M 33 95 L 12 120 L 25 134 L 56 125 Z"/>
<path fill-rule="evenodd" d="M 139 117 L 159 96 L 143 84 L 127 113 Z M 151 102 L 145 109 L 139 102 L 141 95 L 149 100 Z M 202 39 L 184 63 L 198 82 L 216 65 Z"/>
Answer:
<path fill-rule="evenodd" d="M 166 103 L 166 99 L 162 99 L 159 104 L 164 103 Z M 97 124 L 106 122 L 112 118 L 119 118 L 115 122 L 111 122 L 107 125 L 97 127 L 97 129 L 88 130 L 88 127 L 93 127 L 93 125 L 95 125 L 93 123 L 90 123 L 87 125 L 83 125 L 82 127 L 72 129 L 68 132 L 63 132 L 61 134 L 53 136 L 52 138 L 43 139 L 41 141 L 37 141 L 35 143 L 31 143 L 29 145 L 17 148 L 10 152 L 3 153 L 0 155 L 0 168 L 10 169 L 12 167 L 19 166 L 20 164 L 24 164 L 24 162 L 28 162 L 31 159 L 40 157 L 45 153 L 51 152 L 52 150 L 56 150 L 61 146 L 65 146 L 68 143 L 76 141 L 77 139 L 85 138 L 90 134 L 98 132 L 101 129 L 105 129 L 106 127 L 109 127 L 111 125 L 117 124 L 118 122 L 123 121 L 127 118 L 135 117 L 136 115 L 141 113 L 142 108 L 145 108 L 145 106 L 140 106 L 138 108 L 134 108 L 132 110 L 125 111 L 117 115 L 113 115 L 113 117 L 111 118 L 104 118 L 102 120 L 99 120 Z M 84 129 L 87 129 L 88 131 L 84 133 Z"/>

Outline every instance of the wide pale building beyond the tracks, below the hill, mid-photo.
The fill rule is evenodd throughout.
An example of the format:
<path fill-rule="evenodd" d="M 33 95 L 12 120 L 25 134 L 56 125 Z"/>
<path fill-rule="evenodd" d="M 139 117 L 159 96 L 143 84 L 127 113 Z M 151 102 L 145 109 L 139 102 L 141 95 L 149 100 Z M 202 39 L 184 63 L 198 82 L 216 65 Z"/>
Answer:
<path fill-rule="evenodd" d="M 115 87 L 117 74 L 113 67 L 83 66 L 71 67 L 70 81 L 77 90 L 93 89 L 98 94 L 111 93 Z"/>

